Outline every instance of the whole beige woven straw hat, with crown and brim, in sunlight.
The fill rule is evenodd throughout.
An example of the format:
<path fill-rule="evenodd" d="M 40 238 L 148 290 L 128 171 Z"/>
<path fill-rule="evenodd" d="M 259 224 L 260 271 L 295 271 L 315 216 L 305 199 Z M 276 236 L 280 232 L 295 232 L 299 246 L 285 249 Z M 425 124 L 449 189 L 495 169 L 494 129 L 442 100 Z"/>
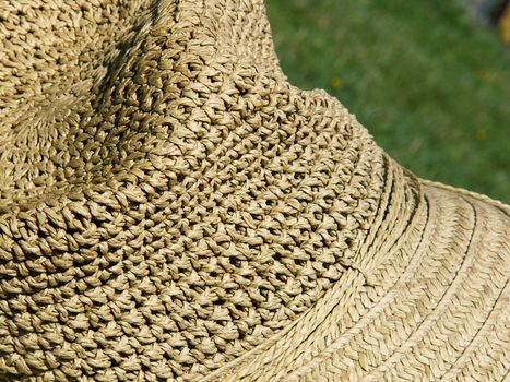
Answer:
<path fill-rule="evenodd" d="M 500 381 L 510 208 L 293 87 L 261 0 L 0 2 L 0 381 Z"/>

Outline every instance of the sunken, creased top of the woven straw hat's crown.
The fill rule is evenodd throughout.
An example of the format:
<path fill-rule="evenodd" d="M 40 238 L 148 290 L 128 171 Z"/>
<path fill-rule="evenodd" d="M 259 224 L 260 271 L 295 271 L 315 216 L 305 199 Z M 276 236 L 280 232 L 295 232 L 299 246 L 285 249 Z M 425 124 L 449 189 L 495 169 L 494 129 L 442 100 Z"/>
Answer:
<path fill-rule="evenodd" d="M 0 144 L 9 150 L 0 153 L 5 169 L 0 174 L 0 205 L 46 192 L 58 182 L 55 178 L 63 177 L 48 162 L 52 146 L 75 141 L 91 126 L 99 141 L 111 135 L 95 115 L 99 105 L 102 110 L 111 107 L 105 98 L 119 87 L 120 76 L 126 84 L 152 75 L 151 84 L 139 84 L 149 88 L 156 77 L 162 81 L 182 71 L 186 81 L 195 81 L 193 75 L 212 70 L 214 62 L 225 63 L 226 70 L 248 65 L 282 76 L 262 1 L 64 1 L 59 7 L 14 2 L 4 13 L 9 33 L 0 36 L 0 45 L 9 59 L 0 62 L 7 81 L 0 89 Z M 31 23 L 36 15 L 39 21 Z M 21 55 L 20 47 L 25 47 Z M 176 68 L 183 55 L 186 62 L 180 60 Z M 177 96 L 173 89 L 164 89 L 166 98 Z M 132 105 L 123 93 L 118 89 L 115 107 L 126 110 Z M 40 169 L 27 164 L 35 160 L 43 162 Z M 43 168 L 51 168 L 52 175 Z M 78 172 L 83 178 L 83 171 Z"/>

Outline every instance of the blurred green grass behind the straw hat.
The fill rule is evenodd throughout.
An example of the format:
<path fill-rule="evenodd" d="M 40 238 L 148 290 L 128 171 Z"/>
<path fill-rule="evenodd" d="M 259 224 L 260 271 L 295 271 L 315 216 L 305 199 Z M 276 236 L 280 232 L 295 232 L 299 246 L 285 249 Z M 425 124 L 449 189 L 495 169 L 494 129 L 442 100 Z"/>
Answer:
<path fill-rule="evenodd" d="M 455 1 L 266 0 L 289 81 L 416 175 L 510 202 L 510 48 Z"/>

